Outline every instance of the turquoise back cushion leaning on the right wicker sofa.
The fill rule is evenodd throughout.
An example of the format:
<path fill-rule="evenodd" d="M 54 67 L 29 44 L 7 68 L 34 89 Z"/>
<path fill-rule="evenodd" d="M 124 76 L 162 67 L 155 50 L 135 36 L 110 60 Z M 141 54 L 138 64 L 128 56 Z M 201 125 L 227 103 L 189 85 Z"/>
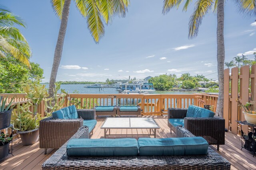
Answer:
<path fill-rule="evenodd" d="M 186 117 L 214 117 L 214 112 L 202 107 L 190 105 Z"/>

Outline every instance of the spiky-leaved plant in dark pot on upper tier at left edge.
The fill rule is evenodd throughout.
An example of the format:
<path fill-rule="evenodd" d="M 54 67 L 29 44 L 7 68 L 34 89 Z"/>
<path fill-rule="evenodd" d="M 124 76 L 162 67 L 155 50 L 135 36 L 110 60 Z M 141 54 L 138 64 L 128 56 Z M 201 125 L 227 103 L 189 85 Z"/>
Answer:
<path fill-rule="evenodd" d="M 4 129 L 10 126 L 12 108 L 14 107 L 12 106 L 14 97 L 9 102 L 8 106 L 6 106 L 6 101 L 8 99 L 8 96 L 6 97 L 6 99 L 4 99 L 3 96 L 0 96 L 0 129 Z"/>

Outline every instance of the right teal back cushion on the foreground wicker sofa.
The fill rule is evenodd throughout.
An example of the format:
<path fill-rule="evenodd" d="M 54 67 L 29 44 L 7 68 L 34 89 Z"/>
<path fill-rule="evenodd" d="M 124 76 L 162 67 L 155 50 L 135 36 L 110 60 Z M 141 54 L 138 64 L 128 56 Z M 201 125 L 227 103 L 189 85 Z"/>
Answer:
<path fill-rule="evenodd" d="M 202 137 L 139 138 L 140 156 L 173 156 L 206 154 L 208 143 Z"/>

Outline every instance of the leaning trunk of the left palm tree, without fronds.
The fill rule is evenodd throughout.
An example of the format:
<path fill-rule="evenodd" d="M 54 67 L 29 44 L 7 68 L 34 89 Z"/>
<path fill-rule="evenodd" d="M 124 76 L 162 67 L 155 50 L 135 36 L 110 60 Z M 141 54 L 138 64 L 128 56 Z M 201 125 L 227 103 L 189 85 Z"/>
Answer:
<path fill-rule="evenodd" d="M 58 35 L 57 44 L 54 52 L 54 59 L 52 63 L 52 72 L 50 76 L 50 84 L 49 84 L 49 97 L 54 95 L 53 89 L 55 88 L 56 76 L 58 72 L 58 68 L 60 65 L 60 59 L 62 56 L 62 49 L 64 44 L 64 38 L 66 34 L 66 29 L 68 25 L 68 16 L 69 16 L 69 8 L 70 8 L 71 0 L 65 0 L 63 10 L 62 10 L 62 18 L 60 22 L 60 30 Z"/>

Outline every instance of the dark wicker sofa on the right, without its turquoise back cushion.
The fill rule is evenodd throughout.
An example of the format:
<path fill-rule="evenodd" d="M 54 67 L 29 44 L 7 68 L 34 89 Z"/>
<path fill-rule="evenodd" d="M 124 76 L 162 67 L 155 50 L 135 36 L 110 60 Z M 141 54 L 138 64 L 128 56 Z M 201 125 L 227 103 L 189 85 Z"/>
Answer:
<path fill-rule="evenodd" d="M 186 117 L 187 111 L 188 109 L 168 108 L 168 127 L 171 133 L 176 133 L 176 126 L 180 124 L 193 135 L 206 139 L 209 145 L 217 145 L 217 150 L 220 145 L 225 145 L 225 119 L 217 116 Z M 180 121 L 174 124 L 169 119 Z"/>

